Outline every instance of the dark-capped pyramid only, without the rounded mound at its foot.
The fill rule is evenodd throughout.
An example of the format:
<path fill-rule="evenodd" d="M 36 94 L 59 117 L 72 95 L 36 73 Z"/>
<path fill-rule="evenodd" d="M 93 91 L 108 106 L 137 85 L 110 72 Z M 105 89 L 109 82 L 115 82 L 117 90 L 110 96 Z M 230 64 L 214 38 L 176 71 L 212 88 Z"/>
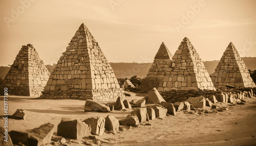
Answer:
<path fill-rule="evenodd" d="M 170 71 L 170 60 L 173 55 L 169 52 L 166 45 L 162 42 L 159 50 L 154 58 L 154 62 L 148 70 L 147 75 L 161 75 L 163 76 L 166 71 Z"/>

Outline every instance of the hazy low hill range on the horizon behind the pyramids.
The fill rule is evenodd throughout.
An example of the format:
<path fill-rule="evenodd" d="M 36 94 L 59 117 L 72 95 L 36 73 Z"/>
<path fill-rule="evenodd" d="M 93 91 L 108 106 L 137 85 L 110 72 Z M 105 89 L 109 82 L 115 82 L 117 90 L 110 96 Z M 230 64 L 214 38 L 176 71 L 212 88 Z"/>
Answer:
<path fill-rule="evenodd" d="M 256 57 L 242 57 L 247 69 L 255 70 L 256 69 Z M 218 65 L 219 61 L 205 61 L 204 65 L 206 70 L 209 74 L 214 73 L 216 66 Z M 54 65 L 46 65 L 49 72 L 52 72 Z M 113 68 L 115 75 L 117 78 L 131 78 L 132 76 L 137 75 L 139 78 L 146 77 L 148 69 L 152 63 L 110 63 L 111 67 Z M 7 72 L 9 71 L 9 66 L 0 66 L 0 78 L 4 79 Z"/>

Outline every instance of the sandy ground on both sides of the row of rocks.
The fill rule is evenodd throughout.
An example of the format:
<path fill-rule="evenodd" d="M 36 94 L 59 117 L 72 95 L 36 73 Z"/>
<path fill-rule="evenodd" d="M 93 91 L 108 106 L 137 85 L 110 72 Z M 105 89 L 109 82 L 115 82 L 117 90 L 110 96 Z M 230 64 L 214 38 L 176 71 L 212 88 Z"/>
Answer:
<path fill-rule="evenodd" d="M 143 94 L 132 94 L 127 100 L 141 99 Z M 132 110 L 110 113 L 84 112 L 85 101 L 72 99 L 38 99 L 26 96 L 9 96 L 9 114 L 24 109 L 26 120 L 9 119 L 9 131 L 28 130 L 45 123 L 55 125 L 54 134 L 61 117 L 83 120 L 92 116 L 118 119 L 126 117 Z M 0 114 L 4 114 L 3 96 L 0 96 Z M 195 115 L 178 112 L 177 116 L 147 121 L 129 130 L 114 134 L 104 133 L 101 137 L 111 140 L 103 145 L 256 145 L 256 98 L 246 99 L 245 105 L 229 106 L 227 111 Z M 4 120 L 0 119 L 0 125 Z M 67 139 L 69 140 L 69 139 Z M 83 141 L 90 141 L 84 138 Z M 83 145 L 76 141 L 70 145 Z M 91 140 L 92 141 L 92 140 Z"/>

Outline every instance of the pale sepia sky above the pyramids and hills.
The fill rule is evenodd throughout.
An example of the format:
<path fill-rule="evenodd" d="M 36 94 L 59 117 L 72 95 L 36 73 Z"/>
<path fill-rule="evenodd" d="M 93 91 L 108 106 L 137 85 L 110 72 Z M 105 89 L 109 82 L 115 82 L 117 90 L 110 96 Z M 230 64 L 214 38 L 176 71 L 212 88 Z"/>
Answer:
<path fill-rule="evenodd" d="M 153 62 L 162 42 L 174 54 L 188 37 L 203 61 L 219 60 L 229 42 L 256 57 L 256 1 L 0 1 L 0 66 L 32 43 L 57 63 L 83 22 L 109 62 Z"/>

